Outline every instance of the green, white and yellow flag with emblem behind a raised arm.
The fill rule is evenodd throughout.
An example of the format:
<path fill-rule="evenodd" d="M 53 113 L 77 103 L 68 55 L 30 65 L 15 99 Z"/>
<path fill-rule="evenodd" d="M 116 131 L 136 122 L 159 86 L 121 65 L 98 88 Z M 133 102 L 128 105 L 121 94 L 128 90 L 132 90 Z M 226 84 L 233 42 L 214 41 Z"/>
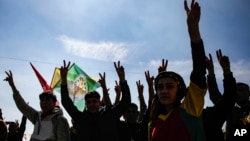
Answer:
<path fill-rule="evenodd" d="M 86 74 L 75 63 L 73 63 L 68 70 L 67 85 L 69 96 L 79 111 L 83 111 L 83 109 L 85 108 L 85 94 L 100 87 L 100 84 L 96 80 Z M 51 81 L 51 88 L 60 93 L 60 87 L 60 69 L 55 68 Z"/>

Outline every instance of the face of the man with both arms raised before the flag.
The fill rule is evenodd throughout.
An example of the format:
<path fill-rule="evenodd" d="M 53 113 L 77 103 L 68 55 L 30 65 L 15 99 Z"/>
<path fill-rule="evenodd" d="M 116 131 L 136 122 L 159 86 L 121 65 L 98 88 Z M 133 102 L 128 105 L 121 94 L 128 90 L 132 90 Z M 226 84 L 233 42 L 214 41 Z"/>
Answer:
<path fill-rule="evenodd" d="M 97 113 L 101 106 L 101 102 L 100 102 L 100 99 L 90 98 L 85 101 L 85 105 L 86 105 L 87 110 L 90 113 Z"/>

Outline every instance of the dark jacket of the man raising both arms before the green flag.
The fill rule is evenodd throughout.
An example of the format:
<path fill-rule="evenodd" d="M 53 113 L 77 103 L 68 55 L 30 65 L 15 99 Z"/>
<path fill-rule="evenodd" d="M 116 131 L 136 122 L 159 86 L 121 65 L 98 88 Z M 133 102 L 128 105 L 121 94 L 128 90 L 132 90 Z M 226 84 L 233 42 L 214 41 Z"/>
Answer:
<path fill-rule="evenodd" d="M 78 111 L 69 97 L 67 85 L 61 85 L 62 105 L 78 124 L 78 141 L 118 141 L 120 117 L 131 102 L 127 82 L 121 83 L 122 99 L 113 108 L 100 109 L 93 115 L 87 110 Z"/>

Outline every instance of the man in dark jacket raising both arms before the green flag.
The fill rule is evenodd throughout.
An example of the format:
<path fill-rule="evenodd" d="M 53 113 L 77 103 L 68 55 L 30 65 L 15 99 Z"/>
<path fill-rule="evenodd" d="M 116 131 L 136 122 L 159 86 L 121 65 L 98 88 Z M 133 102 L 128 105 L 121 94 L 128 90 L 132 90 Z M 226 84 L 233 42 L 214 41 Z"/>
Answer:
<path fill-rule="evenodd" d="M 88 92 L 84 99 L 86 108 L 79 111 L 69 97 L 67 88 L 67 73 L 70 62 L 63 61 L 61 66 L 61 101 L 62 105 L 78 124 L 77 140 L 78 141 L 118 141 L 121 140 L 118 134 L 120 117 L 131 102 L 130 90 L 125 78 L 123 66 L 114 63 L 115 70 L 119 77 L 122 98 L 118 105 L 112 108 L 103 108 L 101 105 L 101 96 L 97 91 Z"/>

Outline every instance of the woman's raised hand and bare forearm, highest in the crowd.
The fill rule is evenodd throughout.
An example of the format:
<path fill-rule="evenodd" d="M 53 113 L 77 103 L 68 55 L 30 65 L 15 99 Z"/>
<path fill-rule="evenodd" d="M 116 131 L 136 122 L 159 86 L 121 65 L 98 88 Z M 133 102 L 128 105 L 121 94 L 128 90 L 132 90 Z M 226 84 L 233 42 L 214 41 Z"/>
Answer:
<path fill-rule="evenodd" d="M 188 32 L 191 41 L 199 42 L 201 40 L 200 31 L 199 31 L 199 21 L 201 10 L 198 2 L 192 0 L 190 8 L 188 7 L 187 1 L 184 0 L 184 9 L 187 14 L 187 25 Z"/>

